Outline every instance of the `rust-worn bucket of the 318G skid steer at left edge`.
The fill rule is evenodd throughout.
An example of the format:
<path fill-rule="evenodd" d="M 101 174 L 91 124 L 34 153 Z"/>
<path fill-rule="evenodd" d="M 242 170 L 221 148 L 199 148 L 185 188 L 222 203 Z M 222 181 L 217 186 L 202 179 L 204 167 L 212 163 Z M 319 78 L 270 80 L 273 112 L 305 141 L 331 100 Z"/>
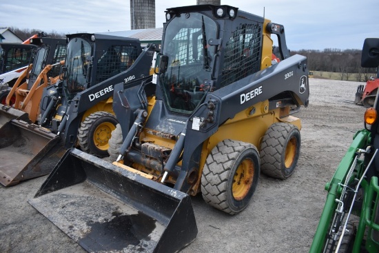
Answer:
<path fill-rule="evenodd" d="M 65 149 L 57 134 L 12 119 L 0 128 L 0 183 L 10 186 L 49 174 Z"/>

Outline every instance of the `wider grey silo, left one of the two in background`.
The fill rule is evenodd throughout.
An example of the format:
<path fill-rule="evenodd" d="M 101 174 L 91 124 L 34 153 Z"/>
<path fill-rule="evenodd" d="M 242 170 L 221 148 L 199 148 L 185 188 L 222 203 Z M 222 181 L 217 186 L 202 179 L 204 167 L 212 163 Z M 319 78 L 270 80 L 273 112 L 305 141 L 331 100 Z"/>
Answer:
<path fill-rule="evenodd" d="M 155 28 L 155 0 L 130 0 L 132 30 Z"/>

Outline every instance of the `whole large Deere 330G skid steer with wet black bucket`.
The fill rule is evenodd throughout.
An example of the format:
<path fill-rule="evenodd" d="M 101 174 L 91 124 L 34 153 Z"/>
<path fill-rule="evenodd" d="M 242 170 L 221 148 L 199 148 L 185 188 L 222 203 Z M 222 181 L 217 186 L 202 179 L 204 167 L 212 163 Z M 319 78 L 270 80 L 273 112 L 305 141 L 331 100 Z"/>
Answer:
<path fill-rule="evenodd" d="M 197 234 L 190 195 L 238 214 L 260 171 L 298 161 L 307 59 L 283 26 L 232 6 L 165 14 L 159 72 L 114 86 L 113 163 L 72 148 L 28 201 L 90 252 L 177 252 Z"/>

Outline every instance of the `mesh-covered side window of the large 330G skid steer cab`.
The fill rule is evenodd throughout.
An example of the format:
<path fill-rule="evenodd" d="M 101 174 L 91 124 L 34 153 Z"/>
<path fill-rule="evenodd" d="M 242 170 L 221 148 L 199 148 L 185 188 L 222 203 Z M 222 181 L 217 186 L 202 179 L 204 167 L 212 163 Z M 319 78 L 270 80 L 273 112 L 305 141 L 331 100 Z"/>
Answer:
<path fill-rule="evenodd" d="M 260 70 L 262 28 L 259 23 L 240 24 L 225 47 L 221 87 Z"/>

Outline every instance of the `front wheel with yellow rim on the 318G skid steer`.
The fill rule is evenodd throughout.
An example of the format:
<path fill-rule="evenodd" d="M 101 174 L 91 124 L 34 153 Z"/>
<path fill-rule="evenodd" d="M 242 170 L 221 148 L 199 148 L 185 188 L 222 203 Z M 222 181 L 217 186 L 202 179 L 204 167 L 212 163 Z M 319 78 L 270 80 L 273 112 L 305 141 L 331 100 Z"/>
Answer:
<path fill-rule="evenodd" d="M 99 157 L 108 155 L 108 141 L 119 123 L 109 112 L 94 112 L 81 123 L 78 141 L 81 150 Z"/>

